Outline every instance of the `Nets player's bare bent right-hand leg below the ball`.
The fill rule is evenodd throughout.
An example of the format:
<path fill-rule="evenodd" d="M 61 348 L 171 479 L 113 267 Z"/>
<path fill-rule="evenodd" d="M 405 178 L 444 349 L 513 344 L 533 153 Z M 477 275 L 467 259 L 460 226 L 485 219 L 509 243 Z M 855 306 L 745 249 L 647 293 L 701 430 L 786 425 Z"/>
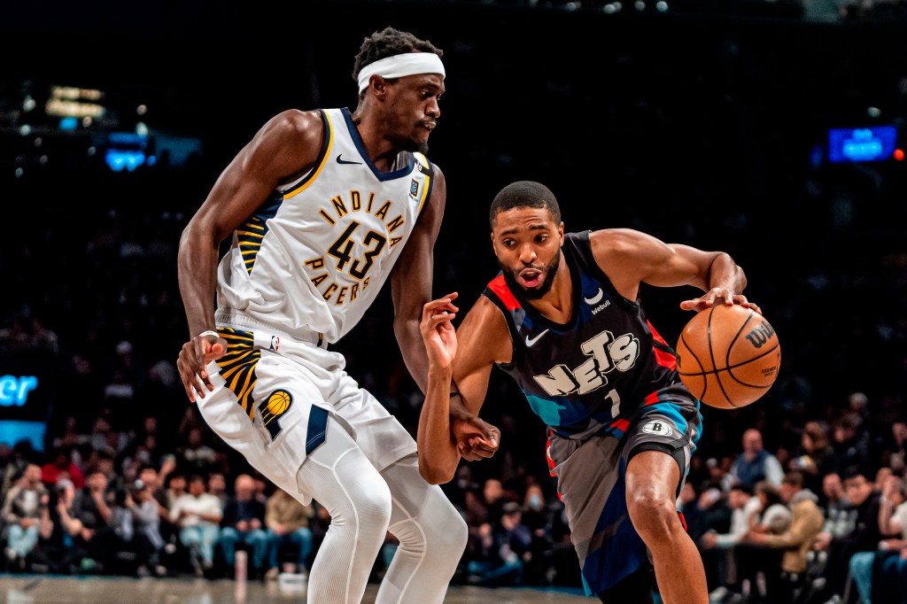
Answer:
<path fill-rule="evenodd" d="M 697 404 L 678 393 L 659 393 L 658 401 L 644 407 L 627 430 L 622 455 L 629 518 L 649 548 L 666 604 L 706 604 L 706 571 L 677 512 L 700 415 Z"/>

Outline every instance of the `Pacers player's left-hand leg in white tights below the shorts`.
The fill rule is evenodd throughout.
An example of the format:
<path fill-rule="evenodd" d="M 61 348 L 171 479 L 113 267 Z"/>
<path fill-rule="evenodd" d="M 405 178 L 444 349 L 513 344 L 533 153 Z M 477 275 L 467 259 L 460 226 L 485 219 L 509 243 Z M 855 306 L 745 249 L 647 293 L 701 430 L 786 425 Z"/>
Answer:
<path fill-rule="evenodd" d="M 333 417 L 327 419 L 325 441 L 309 453 L 297 482 L 331 518 L 309 572 L 307 601 L 360 602 L 391 517 L 387 484 Z"/>

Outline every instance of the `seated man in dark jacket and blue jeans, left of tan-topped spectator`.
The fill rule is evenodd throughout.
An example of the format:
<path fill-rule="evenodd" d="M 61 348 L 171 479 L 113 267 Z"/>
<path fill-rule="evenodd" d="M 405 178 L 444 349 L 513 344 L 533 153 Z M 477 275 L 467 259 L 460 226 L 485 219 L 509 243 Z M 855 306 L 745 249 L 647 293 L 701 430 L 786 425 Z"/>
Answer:
<path fill-rule="evenodd" d="M 233 495 L 224 507 L 220 521 L 220 546 L 224 551 L 229 572 L 236 564 L 236 546 L 248 545 L 249 575 L 262 571 L 268 553 L 268 533 L 265 532 L 265 504 L 255 497 L 255 481 L 249 474 L 239 474 L 233 483 Z"/>

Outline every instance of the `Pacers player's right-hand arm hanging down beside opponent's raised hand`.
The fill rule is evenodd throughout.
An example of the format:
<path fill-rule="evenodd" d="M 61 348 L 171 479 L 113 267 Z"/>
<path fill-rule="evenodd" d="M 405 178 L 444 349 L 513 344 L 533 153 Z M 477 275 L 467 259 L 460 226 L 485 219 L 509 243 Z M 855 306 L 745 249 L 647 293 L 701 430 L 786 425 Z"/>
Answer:
<path fill-rule="evenodd" d="M 391 297 L 394 299 L 394 333 L 406 368 L 422 392 L 426 392 L 428 361 L 422 338 L 420 319 L 424 305 L 432 298 L 434 274 L 434 241 L 441 229 L 446 200 L 444 173 L 434 164 L 431 197 L 406 241 L 406 247 L 391 272 Z"/>

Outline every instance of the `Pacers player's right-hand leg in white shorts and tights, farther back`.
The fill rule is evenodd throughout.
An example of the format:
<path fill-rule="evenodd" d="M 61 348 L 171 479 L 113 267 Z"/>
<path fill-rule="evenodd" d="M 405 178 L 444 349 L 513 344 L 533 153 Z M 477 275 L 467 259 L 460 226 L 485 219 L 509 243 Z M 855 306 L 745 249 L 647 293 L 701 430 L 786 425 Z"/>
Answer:
<path fill-rule="evenodd" d="M 466 548 L 468 530 L 441 487 L 419 474 L 413 436 L 373 395 L 346 376 L 336 391 L 338 413 L 390 488 L 389 531 L 400 541 L 376 604 L 444 601 Z"/>

